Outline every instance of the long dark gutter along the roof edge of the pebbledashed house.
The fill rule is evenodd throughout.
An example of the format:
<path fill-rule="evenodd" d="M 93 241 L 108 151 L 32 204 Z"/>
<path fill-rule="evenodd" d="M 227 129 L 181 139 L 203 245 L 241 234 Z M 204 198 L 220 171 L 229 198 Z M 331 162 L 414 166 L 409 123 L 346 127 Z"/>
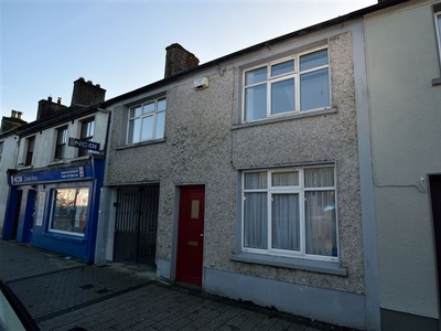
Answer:
<path fill-rule="evenodd" d="M 133 89 L 131 92 L 121 94 L 121 95 L 119 95 L 117 97 L 114 97 L 111 99 L 108 99 L 108 100 L 104 102 L 101 107 L 106 108 L 106 107 L 108 107 L 110 105 L 114 105 L 116 103 L 119 103 L 119 102 L 121 102 L 121 100 L 123 100 L 126 98 L 130 98 L 130 97 L 137 96 L 139 94 L 147 93 L 147 92 L 149 92 L 151 89 L 154 89 L 154 88 L 158 88 L 158 87 L 162 87 L 162 86 L 164 86 L 166 84 L 170 84 L 172 82 L 175 82 L 175 81 L 180 79 L 181 77 L 184 77 L 184 76 L 187 76 L 187 75 L 191 75 L 191 74 L 195 74 L 197 72 L 202 72 L 202 71 L 204 71 L 206 68 L 209 68 L 212 66 L 216 66 L 217 64 L 219 64 L 222 62 L 232 61 L 235 57 L 239 57 L 239 56 L 252 53 L 252 52 L 257 52 L 257 51 L 259 51 L 261 49 L 266 49 L 268 46 L 282 43 L 282 42 L 284 42 L 284 41 L 287 41 L 289 39 L 294 39 L 294 38 L 298 38 L 298 36 L 301 36 L 301 35 L 305 35 L 305 34 L 309 34 L 309 33 L 318 32 L 318 31 L 324 30 L 324 29 L 333 26 L 333 25 L 337 25 L 337 24 L 342 24 L 342 23 L 347 22 L 347 21 L 356 20 L 358 18 L 364 17 L 365 14 L 368 14 L 368 13 L 372 13 L 372 12 L 375 12 L 375 11 L 378 11 L 378 10 L 383 10 L 385 8 L 389 8 L 389 7 L 392 7 L 392 6 L 397 6 L 397 4 L 400 4 L 400 3 L 409 2 L 409 1 L 411 1 L 411 0 L 385 0 L 385 1 L 380 2 L 380 3 L 373 4 L 373 6 L 369 6 L 369 7 L 353 11 L 351 13 L 347 13 L 347 14 L 343 15 L 343 17 L 337 17 L 337 18 L 331 19 L 329 21 L 324 21 L 324 22 L 321 22 L 321 23 L 318 23 L 318 24 L 314 24 L 314 25 L 311 25 L 311 26 L 308 26 L 308 28 L 304 28 L 304 29 L 288 33 L 288 34 L 283 34 L 281 36 L 268 40 L 266 42 L 258 43 L 258 44 L 252 45 L 250 47 L 247 47 L 247 49 L 237 51 L 235 53 L 230 53 L 228 55 L 225 55 L 223 57 L 218 57 L 216 60 L 213 60 L 213 61 L 209 61 L 207 63 L 201 64 L 201 65 L 198 65 L 198 66 L 196 66 L 194 68 L 178 73 L 178 74 L 175 74 L 175 75 L 173 75 L 171 77 L 166 77 L 164 79 L 157 81 L 157 82 L 154 82 L 152 84 L 149 84 L 149 85 L 142 86 L 140 88 Z"/>

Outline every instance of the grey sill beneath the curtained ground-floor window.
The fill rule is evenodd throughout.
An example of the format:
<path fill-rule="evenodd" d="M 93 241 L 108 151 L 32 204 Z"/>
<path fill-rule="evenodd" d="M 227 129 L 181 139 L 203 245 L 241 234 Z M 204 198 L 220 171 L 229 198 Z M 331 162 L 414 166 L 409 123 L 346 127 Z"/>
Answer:
<path fill-rule="evenodd" d="M 332 261 L 319 261 L 319 260 L 300 259 L 291 257 L 259 255 L 251 253 L 239 253 L 230 256 L 229 259 L 238 263 L 257 264 L 271 267 L 298 269 L 298 270 L 330 274 L 330 275 L 337 275 L 345 277 L 347 276 L 346 268 L 342 268 L 338 264 Z"/>

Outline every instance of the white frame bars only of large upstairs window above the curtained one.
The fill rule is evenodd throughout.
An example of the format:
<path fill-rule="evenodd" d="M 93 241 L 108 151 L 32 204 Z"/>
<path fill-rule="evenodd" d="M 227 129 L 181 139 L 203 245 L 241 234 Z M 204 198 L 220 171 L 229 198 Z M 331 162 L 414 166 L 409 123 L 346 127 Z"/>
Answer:
<path fill-rule="evenodd" d="M 300 71 L 300 57 L 304 56 L 304 55 L 309 55 L 309 54 L 313 54 L 315 52 L 320 52 L 326 50 L 327 51 L 327 64 L 325 65 L 321 65 L 321 66 L 316 66 L 310 70 L 305 70 L 305 71 Z M 287 116 L 287 115 L 292 115 L 292 114 L 299 114 L 299 113 L 308 113 L 308 111 L 316 111 L 316 110 L 322 110 L 322 109 L 327 109 L 331 108 L 331 104 L 332 104 L 332 95 L 331 95 L 331 70 L 330 70 L 330 61 L 329 61 L 329 47 L 326 46 L 321 46 L 321 47 L 316 47 L 316 49 L 312 49 L 305 52 L 301 52 L 298 53 L 295 55 L 291 55 L 291 56 L 287 56 L 283 58 L 278 58 L 276 61 L 271 61 L 268 62 L 266 64 L 260 64 L 260 65 L 256 65 L 252 67 L 249 67 L 247 70 L 243 71 L 243 89 L 241 89 L 241 121 L 243 122 L 251 122 L 251 121 L 258 121 L 258 120 L 266 120 L 269 118 L 273 118 L 273 117 L 280 117 L 280 116 Z M 276 76 L 271 76 L 271 67 L 273 65 L 277 64 L 281 64 L 288 61 L 294 60 L 294 71 L 290 72 L 290 73 L 284 73 L 284 74 L 280 74 L 280 75 L 276 75 Z M 262 81 L 262 82 L 258 82 L 255 84 L 250 84 L 250 85 L 246 85 L 246 74 L 249 72 L 252 72 L 258 68 L 263 68 L 267 67 L 267 79 Z M 308 74 L 308 73 L 312 73 L 312 72 L 318 72 L 321 70 L 327 68 L 327 78 L 329 78 L 329 96 L 330 96 L 330 103 L 327 106 L 324 107 L 319 107 L 319 108 L 312 108 L 312 109 L 300 109 L 301 106 L 301 98 L 300 98 L 300 88 L 301 88 L 301 84 L 300 84 L 300 77 L 303 74 Z M 283 82 L 283 81 L 288 81 L 288 79 L 294 79 L 294 109 L 292 110 L 288 110 L 288 111 L 283 111 L 280 114 L 271 114 L 271 85 L 275 83 L 279 83 L 279 82 Z M 255 87 L 255 86 L 259 86 L 259 85 L 265 85 L 267 86 L 267 117 L 265 118 L 259 118 L 259 119 L 247 119 L 246 118 L 246 89 L 249 87 Z"/>

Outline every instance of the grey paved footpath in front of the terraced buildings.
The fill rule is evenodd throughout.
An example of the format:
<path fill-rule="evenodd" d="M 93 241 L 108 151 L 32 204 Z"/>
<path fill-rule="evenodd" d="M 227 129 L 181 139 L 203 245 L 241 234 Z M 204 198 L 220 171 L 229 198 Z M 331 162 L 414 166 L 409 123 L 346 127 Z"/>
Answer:
<path fill-rule="evenodd" d="M 0 279 L 43 331 L 347 330 L 164 282 L 148 268 L 88 266 L 12 242 L 0 241 Z"/>

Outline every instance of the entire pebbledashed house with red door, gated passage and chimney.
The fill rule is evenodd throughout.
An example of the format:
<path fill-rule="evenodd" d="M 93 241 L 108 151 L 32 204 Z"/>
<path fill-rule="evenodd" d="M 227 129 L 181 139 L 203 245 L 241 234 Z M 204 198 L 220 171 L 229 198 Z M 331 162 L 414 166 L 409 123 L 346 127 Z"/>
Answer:
<path fill-rule="evenodd" d="M 379 329 L 363 33 L 361 11 L 200 66 L 169 46 L 164 79 L 104 104 L 96 261 Z"/>

